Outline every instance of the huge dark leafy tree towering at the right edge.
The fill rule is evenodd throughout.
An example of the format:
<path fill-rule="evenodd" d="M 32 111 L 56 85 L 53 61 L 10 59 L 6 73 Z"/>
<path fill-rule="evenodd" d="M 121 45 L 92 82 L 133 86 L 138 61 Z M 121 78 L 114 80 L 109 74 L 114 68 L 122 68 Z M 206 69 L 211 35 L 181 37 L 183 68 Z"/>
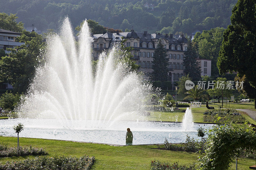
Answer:
<path fill-rule="evenodd" d="M 251 88 L 244 89 L 256 99 L 256 6 L 253 0 L 238 0 L 231 16 L 231 25 L 224 32 L 217 66 L 220 74 L 238 72 Z M 253 92 L 251 91 L 253 90 Z M 256 108 L 256 103 L 255 103 Z"/>

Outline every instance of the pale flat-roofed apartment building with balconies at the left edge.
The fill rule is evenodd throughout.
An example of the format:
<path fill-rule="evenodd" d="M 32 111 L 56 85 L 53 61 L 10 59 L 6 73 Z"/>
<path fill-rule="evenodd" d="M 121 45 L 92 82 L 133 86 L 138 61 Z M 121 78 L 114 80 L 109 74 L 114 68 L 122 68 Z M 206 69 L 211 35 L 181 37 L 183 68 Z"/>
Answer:
<path fill-rule="evenodd" d="M 0 28 L 0 49 L 2 48 L 5 50 L 5 53 L 9 53 L 9 51 L 6 51 L 6 48 L 14 48 L 16 46 L 25 44 L 23 42 L 15 42 L 16 37 L 19 37 L 20 35 L 21 33 L 16 33 Z"/>

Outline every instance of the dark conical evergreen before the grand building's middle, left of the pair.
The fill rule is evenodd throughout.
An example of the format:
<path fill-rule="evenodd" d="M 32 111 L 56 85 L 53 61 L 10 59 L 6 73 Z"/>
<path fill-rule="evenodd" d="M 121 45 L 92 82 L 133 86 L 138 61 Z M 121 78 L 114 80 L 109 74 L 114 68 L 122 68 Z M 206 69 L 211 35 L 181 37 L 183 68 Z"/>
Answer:
<path fill-rule="evenodd" d="M 156 50 L 153 55 L 153 76 L 155 80 L 167 81 L 168 80 L 168 65 L 169 59 L 167 58 L 167 51 L 162 44 L 161 39 L 156 46 Z"/>

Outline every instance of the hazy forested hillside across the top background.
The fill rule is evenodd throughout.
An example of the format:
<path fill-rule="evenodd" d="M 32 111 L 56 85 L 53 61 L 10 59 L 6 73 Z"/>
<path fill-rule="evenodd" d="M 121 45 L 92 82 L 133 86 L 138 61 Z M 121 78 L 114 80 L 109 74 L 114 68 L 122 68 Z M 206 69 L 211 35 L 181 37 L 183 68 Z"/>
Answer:
<path fill-rule="evenodd" d="M 9 0 L 0 11 L 17 13 L 25 27 L 34 24 L 39 30 L 57 29 L 59 21 L 68 16 L 74 27 L 85 18 L 100 25 L 135 31 L 191 33 L 227 27 L 237 0 Z M 3 3 L 3 1 L 2 1 Z M 144 7 L 153 4 L 154 10 Z"/>

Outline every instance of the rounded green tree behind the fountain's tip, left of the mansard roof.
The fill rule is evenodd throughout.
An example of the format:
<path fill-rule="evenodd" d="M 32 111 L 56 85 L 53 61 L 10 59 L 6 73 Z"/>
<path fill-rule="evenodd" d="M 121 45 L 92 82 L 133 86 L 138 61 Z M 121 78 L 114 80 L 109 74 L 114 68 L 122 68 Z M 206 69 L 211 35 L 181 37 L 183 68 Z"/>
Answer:
<path fill-rule="evenodd" d="M 82 26 L 84 24 L 85 20 L 83 20 L 81 23 L 80 23 L 80 26 L 77 26 L 75 29 L 76 31 L 81 31 L 82 29 Z M 100 34 L 100 33 L 106 33 L 107 30 L 106 30 L 106 27 L 104 26 L 101 26 L 98 22 L 92 20 L 92 19 L 88 19 L 86 20 L 89 28 L 90 28 L 90 32 L 92 34 Z"/>

